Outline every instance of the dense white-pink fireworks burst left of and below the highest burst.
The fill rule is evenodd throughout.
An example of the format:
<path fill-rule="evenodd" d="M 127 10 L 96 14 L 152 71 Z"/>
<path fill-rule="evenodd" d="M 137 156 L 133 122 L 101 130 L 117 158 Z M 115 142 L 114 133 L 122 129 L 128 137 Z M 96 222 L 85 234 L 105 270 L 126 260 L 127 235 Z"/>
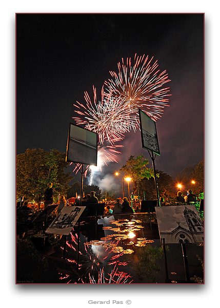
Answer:
<path fill-rule="evenodd" d="M 76 102 L 74 106 L 77 108 L 75 112 L 79 117 L 74 117 L 77 125 L 84 125 L 86 129 L 98 133 L 99 143 L 104 144 L 108 141 L 113 145 L 117 141 L 121 141 L 125 137 L 125 133 L 132 128 L 136 130 L 138 121 L 136 115 L 133 115 L 135 108 L 127 106 L 123 99 L 113 98 L 101 91 L 101 101 L 97 102 L 96 88 L 93 86 L 93 102 L 88 92 L 85 92 L 84 98 L 86 106 Z M 82 117 L 84 119 L 82 120 Z"/>

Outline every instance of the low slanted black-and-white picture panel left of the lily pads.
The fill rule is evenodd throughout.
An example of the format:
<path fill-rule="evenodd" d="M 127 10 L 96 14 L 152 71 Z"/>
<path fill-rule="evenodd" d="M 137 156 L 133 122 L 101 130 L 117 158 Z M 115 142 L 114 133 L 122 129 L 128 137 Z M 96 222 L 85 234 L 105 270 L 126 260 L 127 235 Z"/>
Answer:
<path fill-rule="evenodd" d="M 64 206 L 46 233 L 69 235 L 86 206 Z"/>

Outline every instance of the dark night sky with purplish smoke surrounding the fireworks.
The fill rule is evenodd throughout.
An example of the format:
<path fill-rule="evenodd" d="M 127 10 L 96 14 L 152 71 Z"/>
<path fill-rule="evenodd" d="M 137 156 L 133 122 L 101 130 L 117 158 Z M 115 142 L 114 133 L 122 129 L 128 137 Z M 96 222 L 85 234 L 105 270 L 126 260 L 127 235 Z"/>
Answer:
<path fill-rule="evenodd" d="M 122 57 L 149 55 L 167 70 L 170 107 L 156 122 L 156 169 L 175 180 L 177 172 L 204 156 L 203 14 L 17 14 L 16 152 L 27 148 L 66 152 L 73 104 L 84 91 L 101 92 Z M 143 154 L 141 133 L 125 135 L 116 163 L 94 184 Z M 112 177 L 113 179 L 113 177 Z M 102 185 L 100 185 L 102 186 Z M 103 187 L 101 187 L 103 188 Z"/>

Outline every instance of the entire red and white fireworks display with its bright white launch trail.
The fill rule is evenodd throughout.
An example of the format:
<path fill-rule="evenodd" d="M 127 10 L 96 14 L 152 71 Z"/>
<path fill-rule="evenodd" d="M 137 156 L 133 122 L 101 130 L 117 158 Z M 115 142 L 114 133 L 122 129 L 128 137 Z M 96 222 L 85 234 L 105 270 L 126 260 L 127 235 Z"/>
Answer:
<path fill-rule="evenodd" d="M 170 80 L 166 70 L 159 72 L 157 61 L 152 65 L 153 57 L 134 56 L 122 64 L 118 63 L 118 74 L 110 71 L 112 79 L 105 82 L 101 91 L 101 101 L 97 100 L 96 88 L 93 86 L 93 100 L 88 92 L 84 98 L 86 105 L 74 104 L 77 117 L 73 117 L 77 125 L 98 134 L 97 167 L 87 166 L 91 171 L 90 185 L 92 185 L 95 171 L 102 171 L 102 166 L 108 162 L 117 162 L 116 155 L 120 152 L 116 142 L 125 138 L 125 133 L 139 128 L 138 109 L 142 109 L 153 120 L 161 117 L 164 107 L 168 106 L 169 88 L 164 87 Z M 110 145 L 106 145 L 108 142 Z M 81 164 L 76 164 L 74 171 L 79 170 Z"/>

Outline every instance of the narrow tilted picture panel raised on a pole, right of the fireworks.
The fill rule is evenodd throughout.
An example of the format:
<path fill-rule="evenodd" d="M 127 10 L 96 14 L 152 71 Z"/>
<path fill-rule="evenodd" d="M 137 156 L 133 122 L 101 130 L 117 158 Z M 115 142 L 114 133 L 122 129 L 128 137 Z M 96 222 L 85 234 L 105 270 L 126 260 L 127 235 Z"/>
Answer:
<path fill-rule="evenodd" d="M 142 135 L 142 147 L 144 149 L 147 149 L 149 151 L 152 151 L 160 155 L 157 132 L 156 132 L 156 122 L 153 121 L 141 109 L 138 110 L 139 110 L 139 120 L 140 120 L 141 135 Z"/>

